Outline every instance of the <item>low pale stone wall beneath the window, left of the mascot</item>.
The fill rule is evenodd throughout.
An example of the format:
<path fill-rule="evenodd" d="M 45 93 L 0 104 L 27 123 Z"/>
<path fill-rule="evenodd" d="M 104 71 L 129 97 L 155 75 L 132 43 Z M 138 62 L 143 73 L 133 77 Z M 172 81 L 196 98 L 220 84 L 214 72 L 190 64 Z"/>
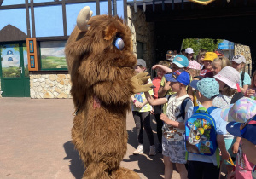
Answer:
<path fill-rule="evenodd" d="M 31 98 L 71 98 L 69 74 L 31 74 Z"/>

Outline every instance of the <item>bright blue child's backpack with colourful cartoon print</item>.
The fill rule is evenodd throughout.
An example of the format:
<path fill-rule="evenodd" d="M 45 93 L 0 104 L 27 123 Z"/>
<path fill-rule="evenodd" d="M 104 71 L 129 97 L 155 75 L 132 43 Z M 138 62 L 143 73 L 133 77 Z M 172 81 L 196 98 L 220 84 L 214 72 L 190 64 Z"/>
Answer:
<path fill-rule="evenodd" d="M 212 156 L 217 147 L 214 118 L 210 115 L 217 107 L 194 107 L 194 114 L 185 123 L 185 146 L 189 153 Z"/>

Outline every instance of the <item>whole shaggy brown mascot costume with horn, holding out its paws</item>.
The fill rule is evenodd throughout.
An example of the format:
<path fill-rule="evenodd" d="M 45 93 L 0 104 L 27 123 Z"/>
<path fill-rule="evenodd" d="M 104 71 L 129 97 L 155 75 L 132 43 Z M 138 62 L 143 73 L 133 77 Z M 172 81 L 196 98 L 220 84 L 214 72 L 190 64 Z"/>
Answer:
<path fill-rule="evenodd" d="M 148 73 L 134 76 L 137 59 L 123 20 L 91 15 L 89 7 L 79 12 L 65 49 L 76 108 L 72 139 L 86 168 L 83 178 L 139 178 L 119 166 L 127 149 L 126 113 L 130 96 L 153 86 Z"/>

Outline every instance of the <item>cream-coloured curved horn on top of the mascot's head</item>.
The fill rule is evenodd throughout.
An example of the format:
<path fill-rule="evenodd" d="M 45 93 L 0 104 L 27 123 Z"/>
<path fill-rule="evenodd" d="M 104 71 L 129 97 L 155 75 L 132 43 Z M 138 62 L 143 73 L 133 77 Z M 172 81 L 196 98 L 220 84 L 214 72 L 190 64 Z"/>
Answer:
<path fill-rule="evenodd" d="M 92 11 L 90 10 L 89 6 L 85 6 L 83 9 L 80 10 L 78 18 L 77 18 L 77 26 L 79 30 L 82 32 L 86 32 L 89 28 L 88 20 L 92 15 Z"/>

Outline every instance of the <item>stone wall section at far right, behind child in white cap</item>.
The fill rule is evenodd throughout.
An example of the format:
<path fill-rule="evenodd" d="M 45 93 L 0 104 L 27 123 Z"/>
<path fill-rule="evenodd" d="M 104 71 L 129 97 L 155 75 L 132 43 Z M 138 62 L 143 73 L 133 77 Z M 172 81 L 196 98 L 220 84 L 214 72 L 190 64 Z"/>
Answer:
<path fill-rule="evenodd" d="M 247 60 L 247 65 L 245 66 L 245 72 L 252 75 L 252 56 L 249 46 L 242 45 L 239 43 L 235 44 L 235 55 L 243 55 Z"/>

